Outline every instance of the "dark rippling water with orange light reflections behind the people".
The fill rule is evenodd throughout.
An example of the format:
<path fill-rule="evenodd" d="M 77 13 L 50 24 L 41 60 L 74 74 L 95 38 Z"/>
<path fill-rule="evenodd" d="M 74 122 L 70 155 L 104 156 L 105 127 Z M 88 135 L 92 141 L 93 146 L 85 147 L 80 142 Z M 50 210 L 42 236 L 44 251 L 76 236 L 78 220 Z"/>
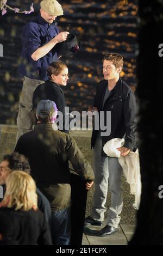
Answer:
<path fill-rule="evenodd" d="M 0 44 L 4 57 L 0 57 L 0 123 L 15 124 L 22 78 L 17 74 L 21 52 L 20 33 L 23 25 L 39 12 L 40 1 L 8 1 L 11 7 L 30 9 L 34 13 L 15 14 L 9 11 L 0 15 Z M 82 48 L 71 58 L 61 58 L 69 69 L 70 80 L 63 88 L 70 111 L 84 111 L 92 104 L 96 84 L 103 78 L 102 59 L 107 52 L 117 52 L 124 57 L 121 76 L 135 89 L 135 52 L 137 40 L 137 1 L 59 1 L 64 16 L 57 17 L 60 31 L 78 35 Z"/>

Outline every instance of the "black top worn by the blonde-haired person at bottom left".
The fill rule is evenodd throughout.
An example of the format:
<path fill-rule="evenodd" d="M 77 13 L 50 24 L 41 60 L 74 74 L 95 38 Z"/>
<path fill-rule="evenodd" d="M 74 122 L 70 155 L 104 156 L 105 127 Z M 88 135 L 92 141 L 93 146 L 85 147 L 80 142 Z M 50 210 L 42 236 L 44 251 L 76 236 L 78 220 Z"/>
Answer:
<path fill-rule="evenodd" d="M 41 211 L 3 207 L 0 212 L 12 220 L 14 233 L 11 240 L 17 241 L 18 245 L 52 245 L 51 233 Z"/>

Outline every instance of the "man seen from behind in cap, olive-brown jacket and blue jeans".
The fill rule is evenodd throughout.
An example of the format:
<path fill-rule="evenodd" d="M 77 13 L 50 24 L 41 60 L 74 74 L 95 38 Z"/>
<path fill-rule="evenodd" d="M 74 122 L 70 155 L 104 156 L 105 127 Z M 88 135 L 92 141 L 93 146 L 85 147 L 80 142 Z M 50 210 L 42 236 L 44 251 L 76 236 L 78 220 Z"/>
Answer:
<path fill-rule="evenodd" d="M 15 151 L 28 157 L 36 185 L 51 204 L 53 244 L 69 245 L 71 186 L 68 161 L 82 176 L 86 190 L 93 184 L 93 170 L 76 141 L 57 130 L 54 101 L 41 100 L 36 108 L 36 117 L 38 121 L 34 131 L 18 139 Z"/>

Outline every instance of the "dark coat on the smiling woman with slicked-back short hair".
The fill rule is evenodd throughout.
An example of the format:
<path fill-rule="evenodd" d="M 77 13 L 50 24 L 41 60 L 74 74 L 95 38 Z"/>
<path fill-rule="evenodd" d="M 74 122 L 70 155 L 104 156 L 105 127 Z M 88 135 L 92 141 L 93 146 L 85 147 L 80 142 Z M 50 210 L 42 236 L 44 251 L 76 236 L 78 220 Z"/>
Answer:
<path fill-rule="evenodd" d="M 58 84 L 46 81 L 45 83 L 40 84 L 35 91 L 33 95 L 33 108 L 36 109 L 37 104 L 40 100 L 53 100 L 58 108 L 58 111 L 60 111 L 63 114 L 63 129 L 59 127 L 60 131 L 64 131 L 68 133 L 69 129 L 69 122 L 68 119 L 65 121 L 65 107 L 66 101 L 65 101 L 65 95 L 60 86 Z M 35 111 L 34 111 L 35 112 Z M 68 115 L 66 115 L 68 117 Z M 67 124 L 67 130 L 65 130 L 65 124 Z"/>

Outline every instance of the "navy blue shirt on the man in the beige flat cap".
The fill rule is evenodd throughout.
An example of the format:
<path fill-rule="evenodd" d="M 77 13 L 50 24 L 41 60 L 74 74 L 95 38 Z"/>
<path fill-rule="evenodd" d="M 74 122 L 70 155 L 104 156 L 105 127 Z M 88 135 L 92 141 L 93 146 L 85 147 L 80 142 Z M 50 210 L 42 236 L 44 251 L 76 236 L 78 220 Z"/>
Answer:
<path fill-rule="evenodd" d="M 31 56 L 37 48 L 47 44 L 58 33 L 57 23 L 49 24 L 40 14 L 23 27 L 21 34 L 21 63 L 18 66 L 18 73 L 21 76 L 44 81 L 48 79 L 46 70 L 49 64 L 58 60 L 55 47 L 37 61 L 34 61 Z"/>

